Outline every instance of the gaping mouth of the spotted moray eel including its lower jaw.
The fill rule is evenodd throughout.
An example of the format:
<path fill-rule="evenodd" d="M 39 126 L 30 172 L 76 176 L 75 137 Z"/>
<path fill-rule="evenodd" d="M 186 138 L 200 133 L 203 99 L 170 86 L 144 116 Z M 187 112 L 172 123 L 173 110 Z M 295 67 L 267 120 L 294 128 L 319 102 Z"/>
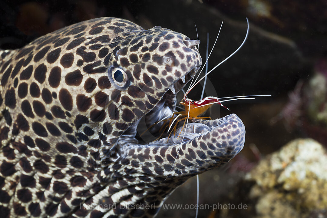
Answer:
<path fill-rule="evenodd" d="M 175 93 L 167 90 L 149 113 L 134 122 L 119 137 L 119 150 L 124 157 L 139 160 L 134 167 L 139 167 L 142 172 L 143 164 L 150 164 L 150 152 L 154 155 L 151 161 L 155 161 L 155 166 L 150 164 L 154 168 L 146 170 L 146 174 L 156 174 L 165 180 L 168 175 L 192 176 L 215 168 L 228 162 L 242 150 L 245 127 L 236 114 L 214 120 L 188 120 L 187 125 L 181 124 L 182 126 L 176 129 L 175 135 L 169 136 L 167 130 L 162 134 L 161 127 L 164 122 L 158 121 L 172 116 L 177 103 L 176 93 L 196 72 L 197 70 L 193 69 L 185 75 L 185 81 L 184 78 L 176 81 L 173 84 Z"/>

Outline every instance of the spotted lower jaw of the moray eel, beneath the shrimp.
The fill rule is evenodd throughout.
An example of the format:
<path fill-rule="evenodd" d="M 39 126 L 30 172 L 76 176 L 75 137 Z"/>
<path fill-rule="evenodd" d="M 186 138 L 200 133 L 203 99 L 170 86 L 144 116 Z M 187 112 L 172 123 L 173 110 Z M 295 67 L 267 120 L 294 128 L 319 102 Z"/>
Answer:
<path fill-rule="evenodd" d="M 184 129 L 178 137 L 181 128 Z M 185 135 L 185 127 L 181 128 L 168 140 L 163 138 L 148 145 L 129 145 L 122 161 L 133 159 L 129 164 L 139 174 L 151 174 L 164 180 L 167 176 L 168 179 L 192 176 L 220 166 L 244 146 L 245 127 L 236 114 L 216 120 L 193 119 Z"/>

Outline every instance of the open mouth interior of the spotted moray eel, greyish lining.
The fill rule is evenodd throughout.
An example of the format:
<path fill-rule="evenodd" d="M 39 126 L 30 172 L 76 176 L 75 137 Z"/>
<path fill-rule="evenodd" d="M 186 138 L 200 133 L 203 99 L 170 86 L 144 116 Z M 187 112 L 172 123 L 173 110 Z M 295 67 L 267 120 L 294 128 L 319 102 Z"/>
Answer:
<path fill-rule="evenodd" d="M 167 123 L 169 122 L 158 122 L 163 120 L 165 117 L 168 117 L 167 119 L 171 118 L 172 116 L 176 117 L 176 115 L 173 115 L 173 112 L 176 111 L 176 105 L 179 104 L 176 98 L 176 93 L 181 91 L 181 89 L 193 78 L 193 76 L 197 73 L 198 68 L 199 67 L 193 68 L 189 73 L 182 76 L 177 82 L 172 84 L 170 89 L 163 95 L 162 100 L 149 113 L 135 123 L 135 127 L 137 129 L 135 138 L 138 140 L 138 144 L 144 144 L 147 146 L 176 145 L 184 142 L 190 142 L 192 139 L 195 139 L 201 135 L 205 136 L 210 133 L 214 136 L 217 135 L 217 141 L 219 141 L 221 136 L 219 136 L 219 134 L 215 134 L 215 132 L 226 132 L 226 126 L 228 124 L 233 123 L 232 125 L 236 127 L 234 132 L 238 132 L 240 130 L 242 131 L 244 129 L 242 121 L 235 114 L 230 114 L 224 118 L 215 120 L 188 120 L 187 126 L 183 125 L 184 122 L 180 122 L 180 127 L 176 128 L 175 134 L 172 133 L 170 136 L 169 133 L 171 129 L 170 131 L 167 131 L 169 128 L 169 126 L 167 127 Z M 215 142 L 215 140 L 211 141 Z M 243 144 L 241 146 L 242 148 Z"/>

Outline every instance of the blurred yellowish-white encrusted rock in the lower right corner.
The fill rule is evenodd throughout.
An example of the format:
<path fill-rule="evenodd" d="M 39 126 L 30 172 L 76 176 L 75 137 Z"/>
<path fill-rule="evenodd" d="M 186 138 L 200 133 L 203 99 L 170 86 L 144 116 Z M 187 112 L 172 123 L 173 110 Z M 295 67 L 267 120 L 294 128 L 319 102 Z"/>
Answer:
<path fill-rule="evenodd" d="M 310 217 L 327 210 L 327 152 L 298 139 L 267 156 L 245 176 L 256 217 Z"/>

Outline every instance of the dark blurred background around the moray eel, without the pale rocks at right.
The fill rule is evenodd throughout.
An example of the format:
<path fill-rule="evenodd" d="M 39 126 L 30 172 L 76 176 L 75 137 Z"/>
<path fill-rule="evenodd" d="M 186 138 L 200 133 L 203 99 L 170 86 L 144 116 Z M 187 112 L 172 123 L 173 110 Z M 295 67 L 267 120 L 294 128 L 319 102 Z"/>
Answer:
<path fill-rule="evenodd" d="M 247 130 L 243 151 L 232 163 L 200 175 L 200 204 L 217 204 L 228 187 L 250 169 L 258 154 L 269 154 L 303 131 L 285 128 L 279 116 L 297 82 L 314 74 L 315 65 L 327 54 L 327 3 L 317 0 L 138 0 L 138 1 L 1 1 L 0 47 L 20 48 L 61 27 L 95 17 L 120 17 L 143 28 L 159 25 L 201 41 L 205 59 L 206 36 L 213 45 L 221 22 L 223 26 L 209 59 L 208 69 L 229 56 L 243 41 L 246 17 L 250 33 L 244 46 L 211 75 L 209 95 L 217 97 L 271 94 L 256 100 L 225 103 L 244 122 Z M 204 63 L 205 61 L 203 61 Z M 201 86 L 189 94 L 199 100 Z M 212 118 L 230 112 L 215 108 Z M 277 116 L 277 122 L 271 119 Z M 285 115 L 284 115 L 285 116 Z M 290 114 L 292 116 L 292 114 Z M 279 118 L 281 118 L 279 120 Z M 251 148 L 251 149 L 250 149 Z M 196 204 L 196 182 L 192 178 L 165 202 Z M 215 217 L 221 211 L 200 210 L 198 217 Z M 158 217 L 195 217 L 195 210 L 161 210 Z"/>

